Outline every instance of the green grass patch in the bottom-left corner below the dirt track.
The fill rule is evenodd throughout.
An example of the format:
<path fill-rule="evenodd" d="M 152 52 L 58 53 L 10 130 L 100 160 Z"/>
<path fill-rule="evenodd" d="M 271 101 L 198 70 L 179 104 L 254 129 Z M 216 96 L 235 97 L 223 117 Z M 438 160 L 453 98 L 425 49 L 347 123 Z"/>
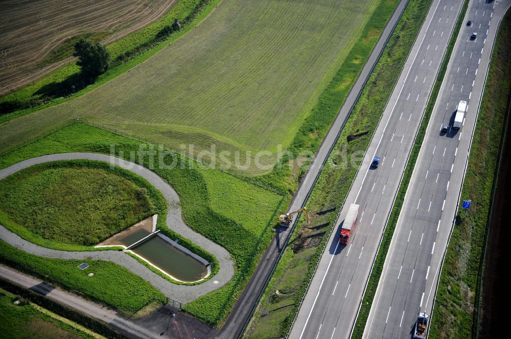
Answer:
<path fill-rule="evenodd" d="M 14 301 L 18 300 L 18 305 Z M 100 335 L 0 290 L 0 338 L 99 339 Z"/>

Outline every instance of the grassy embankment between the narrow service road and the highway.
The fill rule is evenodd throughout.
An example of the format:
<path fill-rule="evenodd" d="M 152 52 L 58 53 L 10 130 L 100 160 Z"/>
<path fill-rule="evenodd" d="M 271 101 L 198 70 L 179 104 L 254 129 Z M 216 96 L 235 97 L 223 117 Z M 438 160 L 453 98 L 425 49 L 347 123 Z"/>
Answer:
<path fill-rule="evenodd" d="M 265 338 L 287 332 L 321 249 L 328 240 L 326 235 L 333 227 L 340 204 L 357 173 L 361 159 L 354 157 L 360 151 L 365 151 L 369 144 L 392 92 L 389 84 L 398 80 L 430 3 L 412 0 L 405 9 L 309 198 L 308 209 L 314 211 L 311 213 L 311 224 L 306 227 L 302 220 L 300 227 L 297 227 L 261 299 L 246 337 Z M 330 97 L 330 100 L 335 98 Z M 334 105 L 335 102 L 331 102 L 331 106 Z M 348 141 L 348 137 L 354 135 L 360 136 Z M 352 161 L 356 166 L 351 165 Z"/>

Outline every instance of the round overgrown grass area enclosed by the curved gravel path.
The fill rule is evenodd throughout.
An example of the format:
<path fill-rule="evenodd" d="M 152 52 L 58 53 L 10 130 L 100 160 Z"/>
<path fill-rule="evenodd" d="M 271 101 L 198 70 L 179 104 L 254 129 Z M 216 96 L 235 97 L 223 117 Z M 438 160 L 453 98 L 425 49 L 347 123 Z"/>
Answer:
<path fill-rule="evenodd" d="M 10 222 L 67 244 L 97 245 L 154 212 L 146 189 L 108 164 L 35 165 L 1 180 L 0 192 L 0 214 Z"/>

